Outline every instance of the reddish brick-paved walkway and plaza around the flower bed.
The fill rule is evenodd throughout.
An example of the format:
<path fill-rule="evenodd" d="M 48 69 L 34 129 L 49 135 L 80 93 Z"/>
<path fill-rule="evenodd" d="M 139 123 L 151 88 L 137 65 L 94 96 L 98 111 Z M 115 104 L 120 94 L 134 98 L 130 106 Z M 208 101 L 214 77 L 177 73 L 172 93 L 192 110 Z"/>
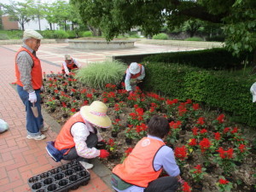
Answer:
<path fill-rule="evenodd" d="M 56 163 L 45 150 L 47 141 L 55 140 L 60 131 L 58 125 L 49 114 L 44 112 L 45 125 L 49 131 L 44 141 L 26 139 L 26 113 L 23 103 L 20 101 L 15 86 L 15 52 L 20 48 L 18 44 L 0 46 L 0 119 L 9 123 L 9 131 L 0 134 L 0 191 L 22 192 L 30 191 L 27 178 L 46 172 L 56 166 L 67 162 Z M 69 49 L 68 44 L 41 44 L 38 50 L 38 58 L 42 61 L 45 73 L 61 70 L 63 55 L 71 54 L 82 66 L 92 61 L 103 61 L 111 55 L 132 55 L 143 53 L 156 53 L 166 51 L 188 50 L 188 47 L 171 47 L 150 44 L 136 44 L 132 49 Z M 80 186 L 76 191 L 110 192 L 110 171 L 99 161 L 95 161 L 95 167 L 90 171 L 90 183 Z"/>

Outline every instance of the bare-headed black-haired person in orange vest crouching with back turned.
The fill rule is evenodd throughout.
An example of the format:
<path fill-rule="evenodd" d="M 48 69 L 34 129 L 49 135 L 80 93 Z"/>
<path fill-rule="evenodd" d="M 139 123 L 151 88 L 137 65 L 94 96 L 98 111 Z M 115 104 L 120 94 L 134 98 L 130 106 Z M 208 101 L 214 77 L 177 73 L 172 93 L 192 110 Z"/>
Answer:
<path fill-rule="evenodd" d="M 170 126 L 164 117 L 154 115 L 148 123 L 148 137 L 143 137 L 131 154 L 113 168 L 111 184 L 119 192 L 176 191 L 179 176 L 172 148 L 164 143 Z M 159 177 L 163 169 L 170 177 Z"/>

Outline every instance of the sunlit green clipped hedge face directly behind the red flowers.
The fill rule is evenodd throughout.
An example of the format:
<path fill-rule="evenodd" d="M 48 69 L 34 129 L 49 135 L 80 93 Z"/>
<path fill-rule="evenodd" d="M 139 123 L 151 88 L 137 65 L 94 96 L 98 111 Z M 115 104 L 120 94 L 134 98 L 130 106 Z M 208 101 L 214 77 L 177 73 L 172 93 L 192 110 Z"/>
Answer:
<path fill-rule="evenodd" d="M 178 64 L 148 62 L 145 67 L 145 90 L 203 102 L 224 110 L 235 122 L 256 125 L 256 104 L 249 91 L 253 79 Z"/>

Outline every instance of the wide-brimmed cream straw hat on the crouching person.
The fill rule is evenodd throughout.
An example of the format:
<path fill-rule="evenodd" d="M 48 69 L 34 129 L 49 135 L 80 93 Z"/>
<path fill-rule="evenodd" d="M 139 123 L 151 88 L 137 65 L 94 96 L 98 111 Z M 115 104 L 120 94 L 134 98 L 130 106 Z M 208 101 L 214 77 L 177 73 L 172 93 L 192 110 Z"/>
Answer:
<path fill-rule="evenodd" d="M 108 107 L 103 102 L 94 101 L 90 106 L 82 107 L 80 113 L 92 125 L 109 128 L 112 122 L 107 115 L 107 110 Z"/>

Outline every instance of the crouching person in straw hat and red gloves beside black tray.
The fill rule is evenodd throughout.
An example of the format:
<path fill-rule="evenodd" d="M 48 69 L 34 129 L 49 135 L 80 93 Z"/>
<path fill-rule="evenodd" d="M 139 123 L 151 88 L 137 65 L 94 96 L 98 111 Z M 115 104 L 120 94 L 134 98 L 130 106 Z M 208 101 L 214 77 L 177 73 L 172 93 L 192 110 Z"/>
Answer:
<path fill-rule="evenodd" d="M 78 113 L 67 120 L 62 126 L 55 142 L 49 142 L 46 149 L 55 160 L 79 160 L 85 169 L 91 169 L 88 160 L 108 157 L 105 149 L 98 150 L 96 146 L 103 143 L 97 127 L 109 128 L 112 122 L 107 115 L 108 107 L 99 101 L 84 106 Z"/>

